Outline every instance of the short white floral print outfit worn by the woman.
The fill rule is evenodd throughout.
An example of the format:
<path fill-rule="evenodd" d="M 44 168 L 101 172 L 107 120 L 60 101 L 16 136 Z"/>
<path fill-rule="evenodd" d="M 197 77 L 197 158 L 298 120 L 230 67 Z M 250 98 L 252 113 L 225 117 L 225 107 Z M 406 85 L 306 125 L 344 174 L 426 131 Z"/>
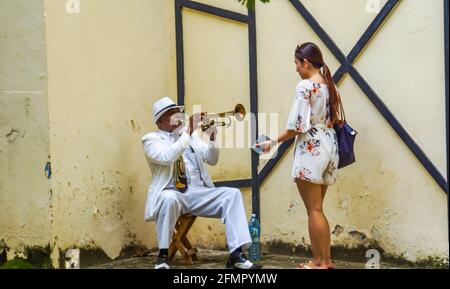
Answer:
<path fill-rule="evenodd" d="M 339 155 L 336 133 L 330 120 L 327 85 L 308 79 L 299 82 L 287 129 L 301 133 L 295 139 L 294 180 L 334 184 Z"/>

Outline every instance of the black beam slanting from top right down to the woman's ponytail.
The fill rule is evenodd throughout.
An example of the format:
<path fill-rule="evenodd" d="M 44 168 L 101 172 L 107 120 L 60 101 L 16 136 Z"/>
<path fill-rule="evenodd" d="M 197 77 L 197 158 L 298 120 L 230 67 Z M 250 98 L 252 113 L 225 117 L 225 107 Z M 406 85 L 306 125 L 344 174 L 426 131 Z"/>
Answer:
<path fill-rule="evenodd" d="M 359 38 L 356 45 L 353 47 L 353 49 L 350 51 L 350 53 L 347 55 L 347 60 L 350 63 L 354 63 L 356 58 L 361 54 L 361 52 L 364 50 L 364 48 L 367 46 L 367 44 L 370 42 L 370 40 L 373 38 L 375 33 L 378 31 L 378 29 L 383 25 L 384 21 L 388 18 L 388 16 L 391 14 L 391 12 L 394 10 L 394 8 L 397 6 L 397 4 L 400 2 L 400 0 L 389 0 L 383 8 L 380 10 L 380 13 L 377 14 L 375 19 L 370 23 L 369 27 L 366 29 L 364 34 Z M 344 66 L 339 67 L 339 69 L 336 71 L 336 73 L 333 76 L 333 80 L 335 83 L 339 83 L 341 81 L 342 77 L 344 77 L 346 70 Z"/>

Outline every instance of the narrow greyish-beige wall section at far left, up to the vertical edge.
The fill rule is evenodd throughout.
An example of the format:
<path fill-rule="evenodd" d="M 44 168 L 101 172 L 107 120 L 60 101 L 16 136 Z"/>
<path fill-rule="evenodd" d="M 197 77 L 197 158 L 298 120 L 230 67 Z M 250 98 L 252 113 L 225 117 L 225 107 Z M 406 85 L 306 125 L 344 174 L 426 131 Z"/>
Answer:
<path fill-rule="evenodd" d="M 14 13 L 12 13 L 14 11 Z M 0 251 L 50 244 L 43 1 L 0 1 Z"/>

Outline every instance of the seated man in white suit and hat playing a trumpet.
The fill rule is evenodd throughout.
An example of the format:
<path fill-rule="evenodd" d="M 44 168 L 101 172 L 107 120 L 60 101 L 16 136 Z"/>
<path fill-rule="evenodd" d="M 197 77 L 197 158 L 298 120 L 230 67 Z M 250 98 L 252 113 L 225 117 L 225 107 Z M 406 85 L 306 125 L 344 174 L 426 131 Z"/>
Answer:
<path fill-rule="evenodd" d="M 195 130 L 203 114 L 191 116 L 185 127 L 180 122 L 183 110 L 168 97 L 155 102 L 153 116 L 159 130 L 142 138 L 153 175 L 145 220 L 156 221 L 159 256 L 155 269 L 169 269 L 170 240 L 178 217 L 184 214 L 222 220 L 230 251 L 227 268 L 261 268 L 242 252 L 251 244 L 251 238 L 240 190 L 216 188 L 203 164 L 218 162 L 217 130 L 215 126 L 206 130 L 209 143 L 205 143 Z"/>

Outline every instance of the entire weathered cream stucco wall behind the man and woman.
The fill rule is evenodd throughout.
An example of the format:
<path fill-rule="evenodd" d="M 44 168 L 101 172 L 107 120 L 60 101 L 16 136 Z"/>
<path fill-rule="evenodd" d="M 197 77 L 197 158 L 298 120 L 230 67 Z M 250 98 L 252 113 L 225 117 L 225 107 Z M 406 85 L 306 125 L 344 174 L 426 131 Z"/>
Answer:
<path fill-rule="evenodd" d="M 0 1 L 0 13 L 33 17 L 0 18 L 0 239 L 14 252 L 50 244 L 55 266 L 59 251 L 71 247 L 100 248 L 110 258 L 130 244 L 156 247 L 154 224 L 143 221 L 151 173 L 140 138 L 155 129 L 153 101 L 176 99 L 173 1 L 81 0 L 79 14 L 67 13 L 64 0 L 9 2 Z M 200 2 L 246 13 L 237 1 Z M 344 53 L 375 16 L 360 0 L 303 2 Z M 442 1 L 426 2 L 401 1 L 355 67 L 446 175 Z M 258 3 L 256 16 L 259 111 L 278 113 L 281 132 L 299 80 L 295 46 L 317 42 L 333 71 L 338 62 L 288 1 Z M 247 27 L 188 9 L 183 21 L 187 112 L 193 105 L 228 111 L 238 102 L 249 109 Z M 340 171 L 326 199 L 332 230 L 343 228 L 333 245 L 376 241 L 408 260 L 448 259 L 447 196 L 351 78 L 340 90 L 359 131 L 358 161 Z M 12 128 L 18 133 L 4 138 Z M 222 137 L 227 145 L 229 135 Z M 292 155 L 261 187 L 264 245 L 309 244 L 306 212 L 289 179 Z M 249 150 L 223 148 L 210 172 L 216 181 L 249 178 Z M 250 214 L 251 190 L 242 191 Z M 226 245 L 219 220 L 199 219 L 190 238 L 202 247 Z"/>

